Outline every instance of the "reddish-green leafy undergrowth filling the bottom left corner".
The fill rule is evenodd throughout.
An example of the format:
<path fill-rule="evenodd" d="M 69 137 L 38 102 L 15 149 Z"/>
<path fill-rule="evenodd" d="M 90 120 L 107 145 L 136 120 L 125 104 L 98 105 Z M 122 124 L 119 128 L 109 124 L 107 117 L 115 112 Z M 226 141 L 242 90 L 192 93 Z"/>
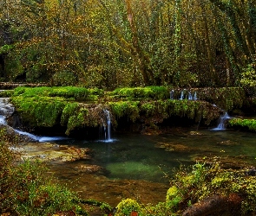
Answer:
<path fill-rule="evenodd" d="M 19 161 L 9 148 L 7 133 L 0 130 L 0 135 L 0 213 L 39 216 L 79 210 L 77 215 L 87 215 L 82 206 L 74 204 L 76 194 L 53 183 L 45 164 Z"/>

